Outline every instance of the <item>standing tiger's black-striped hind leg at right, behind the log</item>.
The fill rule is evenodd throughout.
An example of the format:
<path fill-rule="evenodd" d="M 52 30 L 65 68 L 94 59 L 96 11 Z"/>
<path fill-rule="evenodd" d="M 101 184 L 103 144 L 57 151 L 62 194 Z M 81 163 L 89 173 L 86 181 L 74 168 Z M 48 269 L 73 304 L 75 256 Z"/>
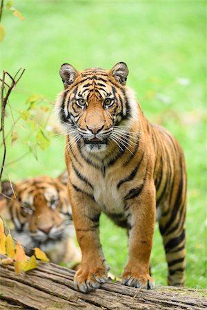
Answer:
<path fill-rule="evenodd" d="M 161 232 L 166 260 L 168 262 L 168 285 L 184 286 L 185 284 L 185 256 L 186 256 L 186 191 L 182 181 L 174 187 L 173 203 L 164 208 L 159 218 L 159 230 Z M 181 189 L 182 188 L 182 189 Z"/>

